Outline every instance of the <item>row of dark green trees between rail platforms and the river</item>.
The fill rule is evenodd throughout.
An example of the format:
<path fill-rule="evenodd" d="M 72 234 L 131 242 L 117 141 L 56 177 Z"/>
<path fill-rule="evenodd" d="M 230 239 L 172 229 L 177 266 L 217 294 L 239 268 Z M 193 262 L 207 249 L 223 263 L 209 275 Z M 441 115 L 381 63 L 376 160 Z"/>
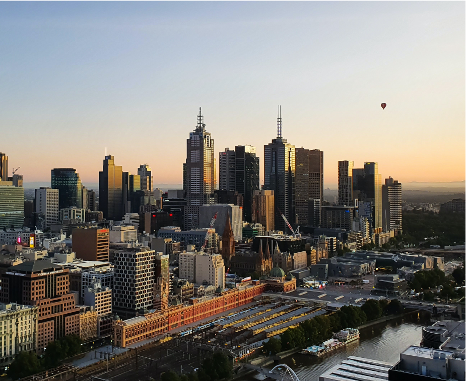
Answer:
<path fill-rule="evenodd" d="M 289 328 L 280 335 L 280 339 L 271 337 L 264 343 L 263 351 L 267 354 L 317 345 L 329 339 L 332 333 L 345 328 L 356 328 L 367 321 L 379 319 L 383 315 L 394 315 L 403 312 L 397 299 L 377 301 L 369 299 L 362 307 L 343 306 L 336 314 L 317 316 Z"/>

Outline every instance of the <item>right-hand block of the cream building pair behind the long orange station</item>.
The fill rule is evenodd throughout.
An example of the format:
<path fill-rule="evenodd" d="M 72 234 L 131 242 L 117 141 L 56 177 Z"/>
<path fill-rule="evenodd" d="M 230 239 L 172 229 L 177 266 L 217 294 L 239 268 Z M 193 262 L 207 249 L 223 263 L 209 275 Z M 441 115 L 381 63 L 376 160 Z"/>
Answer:
<path fill-rule="evenodd" d="M 225 265 L 220 254 L 197 254 L 196 261 L 196 283 L 207 282 L 213 284 L 215 289 L 225 288 Z"/>

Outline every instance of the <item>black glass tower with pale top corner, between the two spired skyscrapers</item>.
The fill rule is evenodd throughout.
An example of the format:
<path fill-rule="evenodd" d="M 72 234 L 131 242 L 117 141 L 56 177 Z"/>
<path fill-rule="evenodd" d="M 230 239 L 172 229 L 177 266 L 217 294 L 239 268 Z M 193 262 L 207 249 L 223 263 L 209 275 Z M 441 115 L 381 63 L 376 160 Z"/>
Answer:
<path fill-rule="evenodd" d="M 259 190 L 259 158 L 253 146 L 235 147 L 235 190 L 243 196 L 245 221 L 252 218 L 252 193 Z"/>

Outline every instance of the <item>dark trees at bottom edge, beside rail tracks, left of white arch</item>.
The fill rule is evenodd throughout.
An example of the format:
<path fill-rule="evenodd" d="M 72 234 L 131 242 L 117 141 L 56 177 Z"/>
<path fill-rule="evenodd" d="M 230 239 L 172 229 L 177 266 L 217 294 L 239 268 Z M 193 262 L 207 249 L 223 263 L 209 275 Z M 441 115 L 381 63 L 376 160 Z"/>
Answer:
<path fill-rule="evenodd" d="M 178 375 L 169 370 L 162 374 L 161 381 L 217 381 L 230 377 L 232 370 L 231 359 L 223 352 L 215 352 L 204 360 L 197 371 Z"/>

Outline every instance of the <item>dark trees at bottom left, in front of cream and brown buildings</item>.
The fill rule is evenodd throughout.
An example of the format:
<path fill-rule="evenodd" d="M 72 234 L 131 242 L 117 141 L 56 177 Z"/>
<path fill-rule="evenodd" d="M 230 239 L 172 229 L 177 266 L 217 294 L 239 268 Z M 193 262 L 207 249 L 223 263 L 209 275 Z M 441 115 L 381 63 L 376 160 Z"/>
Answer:
<path fill-rule="evenodd" d="M 63 359 L 80 353 L 82 343 L 78 335 L 68 335 L 49 342 L 42 358 L 38 358 L 33 351 L 20 352 L 11 363 L 8 375 L 12 379 L 18 379 L 54 368 L 60 365 Z"/>

